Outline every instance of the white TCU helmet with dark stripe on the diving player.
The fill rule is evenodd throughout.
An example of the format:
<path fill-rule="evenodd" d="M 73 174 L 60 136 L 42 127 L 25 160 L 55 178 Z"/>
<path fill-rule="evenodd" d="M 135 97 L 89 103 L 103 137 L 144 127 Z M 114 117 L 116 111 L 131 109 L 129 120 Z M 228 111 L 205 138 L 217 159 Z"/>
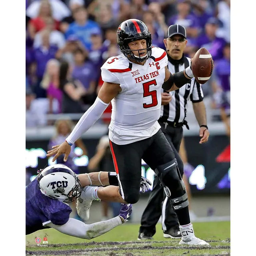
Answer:
<path fill-rule="evenodd" d="M 40 173 L 38 182 L 43 194 L 66 203 L 76 200 L 82 192 L 78 176 L 64 164 L 46 167 Z"/>

